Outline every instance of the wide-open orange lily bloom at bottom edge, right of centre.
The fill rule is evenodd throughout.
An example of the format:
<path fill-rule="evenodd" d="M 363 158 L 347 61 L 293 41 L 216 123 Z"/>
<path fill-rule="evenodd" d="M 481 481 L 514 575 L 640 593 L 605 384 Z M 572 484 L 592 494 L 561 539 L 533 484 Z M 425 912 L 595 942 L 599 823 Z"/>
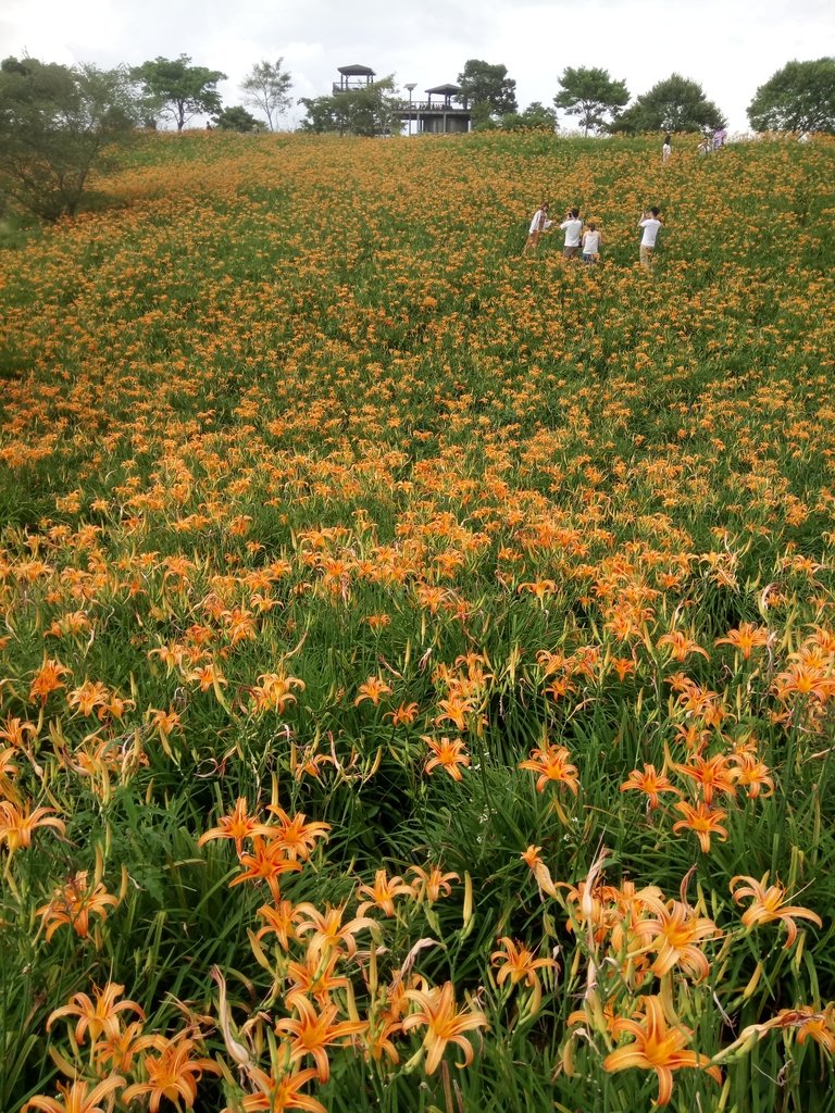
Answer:
<path fill-rule="evenodd" d="M 647 1011 L 642 1024 L 623 1017 L 618 1017 L 612 1024 L 613 1036 L 626 1032 L 635 1036 L 635 1042 L 607 1055 L 603 1070 L 615 1073 L 635 1066 L 642 1071 L 655 1071 L 658 1075 L 658 1105 L 669 1102 L 672 1096 L 672 1072 L 681 1067 L 701 1067 L 721 1085 L 721 1071 L 718 1066 L 709 1065 L 707 1055 L 684 1051 L 691 1032 L 684 1027 L 668 1026 L 661 998 L 642 997 L 641 1003 Z"/>

